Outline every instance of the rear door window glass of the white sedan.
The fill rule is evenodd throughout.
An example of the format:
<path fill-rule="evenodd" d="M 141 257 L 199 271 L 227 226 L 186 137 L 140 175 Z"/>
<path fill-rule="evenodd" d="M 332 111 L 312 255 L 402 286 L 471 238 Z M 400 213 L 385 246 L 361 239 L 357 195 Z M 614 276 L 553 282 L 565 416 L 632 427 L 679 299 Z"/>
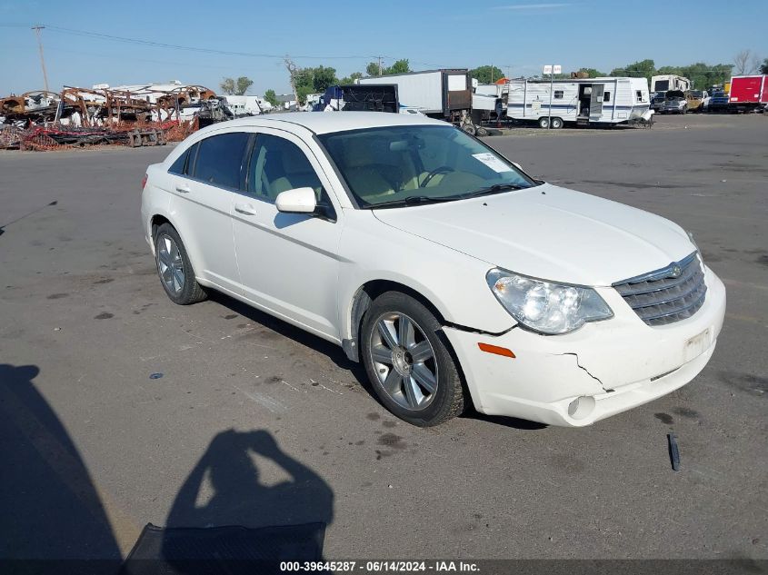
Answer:
<path fill-rule="evenodd" d="M 226 188 L 238 188 L 246 144 L 248 134 L 244 132 L 205 138 L 200 142 L 194 162 L 194 178 Z"/>

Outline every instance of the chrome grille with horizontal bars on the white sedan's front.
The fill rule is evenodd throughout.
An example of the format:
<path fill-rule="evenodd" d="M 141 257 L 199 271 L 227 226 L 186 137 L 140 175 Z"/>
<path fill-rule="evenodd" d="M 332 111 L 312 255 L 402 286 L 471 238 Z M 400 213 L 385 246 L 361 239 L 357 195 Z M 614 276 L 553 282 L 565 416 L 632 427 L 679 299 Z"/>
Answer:
<path fill-rule="evenodd" d="M 661 270 L 614 283 L 624 302 L 648 325 L 689 318 L 702 307 L 707 292 L 696 253 Z"/>

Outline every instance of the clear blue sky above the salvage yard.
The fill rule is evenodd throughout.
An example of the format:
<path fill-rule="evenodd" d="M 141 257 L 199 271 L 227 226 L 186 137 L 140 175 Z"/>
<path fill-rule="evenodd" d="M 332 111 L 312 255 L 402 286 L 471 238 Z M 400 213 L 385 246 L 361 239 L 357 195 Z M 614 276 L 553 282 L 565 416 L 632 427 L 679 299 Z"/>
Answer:
<path fill-rule="evenodd" d="M 727 63 L 745 48 L 764 58 L 766 16 L 764 0 L 0 0 L 0 97 L 43 87 L 28 27 L 38 23 L 224 52 L 288 54 L 301 66 L 333 66 L 340 77 L 364 70 L 376 55 L 384 64 L 408 58 L 414 70 L 495 64 L 518 76 L 537 74 L 547 63 L 605 72 L 644 58 L 657 66 Z M 43 39 L 55 90 L 172 79 L 215 90 L 224 76 L 247 75 L 254 80 L 250 93 L 288 91 L 277 57 L 199 54 L 52 27 Z M 311 55 L 319 57 L 305 57 Z"/>

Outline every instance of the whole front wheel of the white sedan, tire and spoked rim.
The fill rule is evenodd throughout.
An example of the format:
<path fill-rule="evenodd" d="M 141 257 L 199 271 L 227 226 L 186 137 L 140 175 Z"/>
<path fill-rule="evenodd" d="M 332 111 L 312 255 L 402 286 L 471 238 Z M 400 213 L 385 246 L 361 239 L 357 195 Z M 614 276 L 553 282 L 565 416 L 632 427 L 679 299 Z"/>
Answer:
<path fill-rule="evenodd" d="M 421 302 L 383 293 L 365 313 L 360 340 L 368 379 L 394 415 L 429 427 L 464 411 L 464 387 L 442 326 Z"/>

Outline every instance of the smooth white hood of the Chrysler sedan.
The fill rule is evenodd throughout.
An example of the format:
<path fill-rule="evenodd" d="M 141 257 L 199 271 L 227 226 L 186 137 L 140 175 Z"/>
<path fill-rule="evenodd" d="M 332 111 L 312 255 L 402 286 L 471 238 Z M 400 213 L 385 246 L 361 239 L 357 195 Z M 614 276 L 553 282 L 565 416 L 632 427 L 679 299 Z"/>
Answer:
<path fill-rule="evenodd" d="M 669 220 L 548 183 L 463 201 L 374 210 L 374 215 L 489 267 L 581 285 L 611 285 L 695 250 Z"/>

